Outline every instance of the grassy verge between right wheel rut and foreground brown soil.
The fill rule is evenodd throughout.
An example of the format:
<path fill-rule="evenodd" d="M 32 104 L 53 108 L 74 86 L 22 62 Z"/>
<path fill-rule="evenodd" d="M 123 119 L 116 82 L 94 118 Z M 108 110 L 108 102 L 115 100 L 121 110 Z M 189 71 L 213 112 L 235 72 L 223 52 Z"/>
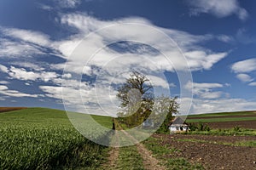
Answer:
<path fill-rule="evenodd" d="M 204 169 L 199 164 L 189 163 L 189 161 L 183 157 L 173 157 L 175 156 L 175 153 L 179 152 L 180 150 L 170 148 L 169 145 L 162 145 L 160 139 L 150 137 L 149 139 L 145 140 L 143 144 L 148 148 L 148 150 L 152 151 L 153 155 L 157 159 L 163 161 L 168 169 Z"/>

